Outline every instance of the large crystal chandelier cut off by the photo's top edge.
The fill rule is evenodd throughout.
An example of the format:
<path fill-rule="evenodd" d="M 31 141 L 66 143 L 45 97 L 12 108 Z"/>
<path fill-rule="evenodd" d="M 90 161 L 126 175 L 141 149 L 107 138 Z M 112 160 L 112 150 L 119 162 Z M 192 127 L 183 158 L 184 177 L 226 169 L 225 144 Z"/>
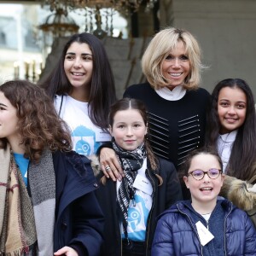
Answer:
<path fill-rule="evenodd" d="M 145 11 L 153 9 L 156 2 L 157 0 L 43 0 L 43 5 L 49 5 L 52 12 L 61 9 L 63 15 L 68 15 L 69 11 L 83 11 L 84 31 L 103 38 L 106 35 L 113 36 L 113 15 L 116 11 L 129 16 L 136 13 L 142 5 L 146 6 Z"/>

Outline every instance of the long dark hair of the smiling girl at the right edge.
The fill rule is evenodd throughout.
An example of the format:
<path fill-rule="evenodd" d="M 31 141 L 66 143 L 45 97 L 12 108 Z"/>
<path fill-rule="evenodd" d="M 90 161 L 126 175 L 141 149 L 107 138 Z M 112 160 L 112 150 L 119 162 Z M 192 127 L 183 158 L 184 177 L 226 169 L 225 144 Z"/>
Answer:
<path fill-rule="evenodd" d="M 249 180 L 256 175 L 256 112 L 253 92 L 246 81 L 242 79 L 224 79 L 212 91 L 211 107 L 207 121 L 206 143 L 216 147 L 221 128 L 218 118 L 218 94 L 225 87 L 238 88 L 247 97 L 247 113 L 244 123 L 239 127 L 233 144 L 227 174 L 242 180 Z"/>

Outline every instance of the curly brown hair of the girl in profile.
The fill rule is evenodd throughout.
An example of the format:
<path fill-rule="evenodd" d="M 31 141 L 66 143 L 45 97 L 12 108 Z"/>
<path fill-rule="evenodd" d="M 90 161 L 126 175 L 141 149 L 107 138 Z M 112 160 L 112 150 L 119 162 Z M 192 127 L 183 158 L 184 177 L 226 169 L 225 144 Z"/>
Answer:
<path fill-rule="evenodd" d="M 26 80 L 8 81 L 0 92 L 17 109 L 18 127 L 25 146 L 26 158 L 38 162 L 45 148 L 51 151 L 72 149 L 70 131 L 55 112 L 55 107 L 45 91 Z M 6 148 L 8 140 L 0 138 L 0 147 Z"/>

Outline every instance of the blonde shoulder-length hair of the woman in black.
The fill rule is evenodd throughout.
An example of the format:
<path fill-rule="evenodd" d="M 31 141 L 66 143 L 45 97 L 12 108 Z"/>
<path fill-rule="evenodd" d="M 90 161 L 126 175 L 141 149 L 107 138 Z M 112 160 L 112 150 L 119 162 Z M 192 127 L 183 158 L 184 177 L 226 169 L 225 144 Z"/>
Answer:
<path fill-rule="evenodd" d="M 170 51 L 175 49 L 180 41 L 185 46 L 186 55 L 188 55 L 190 63 L 190 72 L 184 81 L 183 87 L 188 90 L 198 88 L 201 80 L 201 69 L 204 67 L 201 64 L 201 48 L 199 44 L 190 32 L 167 27 L 154 35 L 143 54 L 143 73 L 154 89 L 170 85 L 166 82 L 161 67 Z"/>

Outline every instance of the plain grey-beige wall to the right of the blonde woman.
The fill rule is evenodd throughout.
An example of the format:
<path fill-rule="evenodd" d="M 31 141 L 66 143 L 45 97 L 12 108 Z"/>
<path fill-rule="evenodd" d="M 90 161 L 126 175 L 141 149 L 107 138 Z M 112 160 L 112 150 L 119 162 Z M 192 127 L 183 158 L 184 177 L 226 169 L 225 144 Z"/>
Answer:
<path fill-rule="evenodd" d="M 221 79 L 247 80 L 256 96 L 255 0 L 160 0 L 160 24 L 189 30 L 208 66 L 201 86 L 212 92 Z"/>

